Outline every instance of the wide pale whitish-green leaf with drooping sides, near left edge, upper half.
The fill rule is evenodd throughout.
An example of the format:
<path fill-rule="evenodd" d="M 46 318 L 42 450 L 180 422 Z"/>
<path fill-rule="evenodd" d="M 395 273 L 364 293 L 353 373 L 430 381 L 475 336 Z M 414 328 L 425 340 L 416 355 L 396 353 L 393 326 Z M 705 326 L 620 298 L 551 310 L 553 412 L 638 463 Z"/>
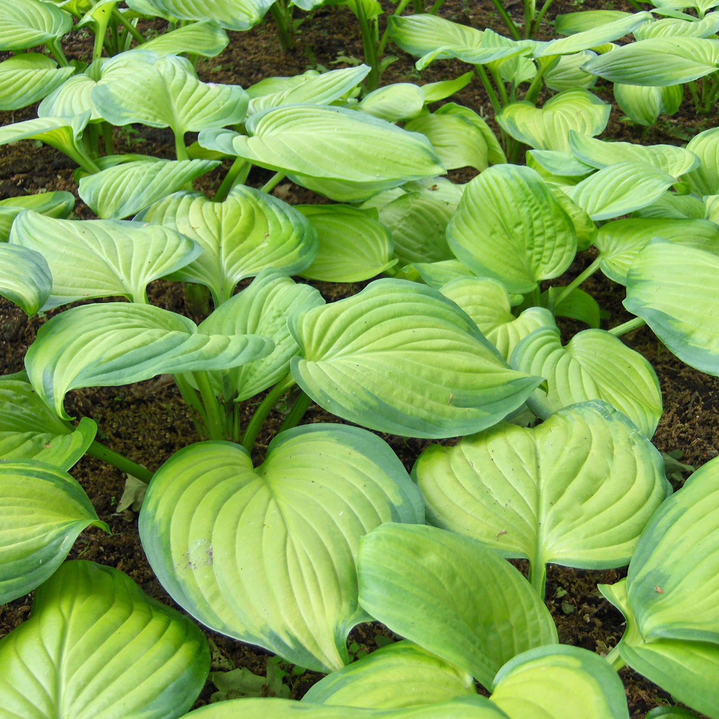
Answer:
<path fill-rule="evenodd" d="M 43 308 L 91 297 L 146 303 L 145 288 L 197 257 L 196 242 L 167 227 L 116 220 L 61 220 L 24 211 L 10 242 L 45 257 L 52 291 Z"/>

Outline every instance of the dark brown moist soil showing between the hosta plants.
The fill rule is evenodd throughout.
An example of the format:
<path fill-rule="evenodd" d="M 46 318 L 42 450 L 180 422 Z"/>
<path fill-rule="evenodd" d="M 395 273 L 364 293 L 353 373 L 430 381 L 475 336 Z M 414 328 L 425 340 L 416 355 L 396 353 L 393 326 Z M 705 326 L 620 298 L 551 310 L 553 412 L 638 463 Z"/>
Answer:
<path fill-rule="evenodd" d="M 519 19 L 521 2 L 509 0 L 505 6 Z M 558 1 L 548 19 L 559 12 L 575 12 L 581 9 L 626 9 L 629 6 L 615 1 L 613 4 Z M 390 10 L 391 12 L 391 10 Z M 483 29 L 492 27 L 504 32 L 498 14 L 490 2 L 470 0 L 448 0 L 441 9 L 443 17 L 456 22 L 470 24 Z M 296 11 L 296 15 L 300 13 Z M 354 62 L 353 58 L 362 57 L 362 44 L 359 40 L 354 16 L 342 6 L 324 7 L 307 15 L 299 27 L 296 45 L 288 52 L 280 51 L 278 35 L 273 22 L 266 19 L 255 29 L 244 33 L 230 32 L 230 44 L 217 58 L 201 60 L 198 74 L 203 81 L 235 83 L 247 87 L 263 78 L 275 75 L 295 75 L 310 68 L 334 69 Z M 162 32 L 162 23 L 154 24 Z M 544 24 L 545 37 L 551 36 L 551 26 Z M 82 32 L 71 35 L 63 47 L 70 60 L 86 58 L 91 52 L 91 39 Z M 457 61 L 434 63 L 421 73 L 415 70 L 413 59 L 400 50 L 393 50 L 398 59 L 389 65 L 383 75 L 383 84 L 409 81 L 423 84 L 446 78 L 454 78 L 467 71 L 467 65 Z M 1 54 L 0 54 L 1 59 Z M 611 101 L 610 88 L 597 84 L 594 91 L 605 101 Z M 485 116 L 490 113 L 480 83 L 473 82 L 453 96 L 452 101 L 470 107 Z M 14 113 L 0 113 L 0 124 L 19 122 L 35 117 L 35 107 Z M 493 119 L 487 118 L 493 123 Z M 679 114 L 672 118 L 662 118 L 649 131 L 642 127 L 624 122 L 616 106 L 602 135 L 603 139 L 618 139 L 629 142 L 667 143 L 681 145 L 693 135 L 707 129 L 707 118 L 697 115 L 691 99 L 687 97 Z M 191 137 L 188 139 L 188 144 Z M 142 126 L 129 127 L 116 131 L 117 152 L 142 152 L 157 157 L 174 157 L 173 137 L 168 130 L 152 129 Z M 219 185 L 224 168 L 196 180 L 196 189 L 212 193 Z M 44 191 L 67 190 L 77 197 L 77 185 L 73 180 L 75 165 L 65 155 L 40 145 L 40 143 L 20 142 L 17 145 L 3 147 L 0 150 L 0 199 L 21 196 Z M 450 173 L 450 177 L 459 182 L 470 180 L 476 173 L 472 170 L 459 170 Z M 253 170 L 248 184 L 260 186 L 270 173 L 265 170 Z M 322 202 L 303 188 L 283 183 L 275 189 L 275 194 L 290 203 Z M 91 219 L 92 212 L 78 198 L 73 214 L 75 219 Z M 592 260 L 592 250 L 577 257 L 574 265 L 560 283 L 568 283 L 578 275 Z M 352 285 L 331 285 L 313 283 L 319 288 L 327 301 L 357 293 L 366 283 Z M 600 303 L 608 313 L 603 328 L 620 324 L 631 316 L 622 306 L 623 288 L 607 280 L 600 273 L 594 275 L 582 285 Z M 242 288 L 242 285 L 241 285 Z M 193 314 L 188 306 L 183 288 L 178 283 L 158 280 L 148 290 L 150 301 L 157 306 L 191 316 L 201 321 L 202 316 Z M 7 374 L 22 370 L 24 354 L 35 339 L 37 330 L 52 316 L 35 317 L 28 320 L 24 313 L 9 301 L 0 298 L 0 372 Z M 574 332 L 585 329 L 579 323 L 564 321 L 562 338 L 564 342 Z M 703 375 L 687 367 L 669 352 L 654 334 L 646 327 L 623 336 L 629 347 L 636 349 L 649 359 L 656 370 L 664 399 L 664 416 L 654 435 L 653 442 L 662 452 L 680 452 L 681 461 L 699 467 L 718 454 L 719 446 L 719 380 Z M 262 399 L 255 398 L 242 407 L 244 424 Z M 149 470 L 157 470 L 162 462 L 183 446 L 198 441 L 190 413 L 184 405 L 178 390 L 165 377 L 155 377 L 144 383 L 119 388 L 92 388 L 77 390 L 68 394 L 65 406 L 71 416 L 88 416 L 99 425 L 98 438 L 117 452 L 121 452 L 134 462 L 144 464 Z M 280 408 L 270 416 L 258 437 L 254 457 L 255 462 L 262 461 L 267 444 L 283 421 Z M 311 406 L 304 422 L 336 422 L 336 417 L 321 408 Z M 428 441 L 402 439 L 396 436 L 382 435 L 403 461 L 407 470 L 411 470 L 418 454 Z M 451 440 L 448 441 L 451 443 Z M 132 510 L 116 513 L 116 505 L 124 490 L 125 478 L 114 467 L 91 457 L 83 457 L 81 462 L 70 470 L 88 494 L 99 517 L 106 521 L 112 531 L 106 535 L 96 528 L 88 528 L 75 542 L 70 559 L 81 557 L 94 562 L 108 564 L 121 569 L 132 577 L 147 594 L 160 602 L 180 609 L 155 578 L 147 564 L 145 552 L 137 533 L 137 516 Z M 681 480 L 673 481 L 678 489 Z M 515 562 L 526 573 L 526 562 Z M 559 631 L 559 641 L 564 644 L 582 646 L 590 651 L 606 653 L 618 643 L 624 631 L 623 617 L 597 591 L 597 584 L 613 584 L 626 576 L 626 568 L 610 569 L 603 572 L 582 571 L 549 565 L 546 585 L 546 604 L 551 611 Z M 19 626 L 27 619 L 32 608 L 32 593 L 20 597 L 0 607 L 0 637 Z M 181 611 L 181 609 L 180 609 Z M 243 644 L 232 638 L 211 631 L 206 635 L 214 641 L 213 669 L 247 667 L 255 674 L 265 675 L 267 658 L 270 656 L 262 649 Z M 358 626 L 352 631 L 349 641 L 352 653 L 372 651 L 377 648 L 377 636 L 393 637 L 387 628 L 379 623 Z M 379 644 L 383 640 L 380 639 Z M 289 684 L 291 696 L 299 699 L 311 685 L 321 678 L 313 672 L 292 672 L 288 670 L 285 682 Z M 651 682 L 625 668 L 620 676 L 626 687 L 630 715 L 632 719 L 644 717 L 652 707 L 672 703 L 667 692 Z M 266 695 L 272 695 L 266 687 Z M 480 687 L 480 690 L 481 687 Z M 209 702 L 215 691 L 211 682 L 206 684 L 196 706 Z M 483 690 L 482 690 L 483 692 Z M 483 692 L 486 693 L 486 692 Z"/>

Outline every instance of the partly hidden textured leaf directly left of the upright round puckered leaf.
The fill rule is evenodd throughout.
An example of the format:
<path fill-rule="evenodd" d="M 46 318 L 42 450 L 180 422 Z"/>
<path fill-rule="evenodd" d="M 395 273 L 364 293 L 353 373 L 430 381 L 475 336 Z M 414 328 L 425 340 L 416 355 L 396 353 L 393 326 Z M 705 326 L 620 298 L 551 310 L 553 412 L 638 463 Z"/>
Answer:
<path fill-rule="evenodd" d="M 445 233 L 456 209 L 457 201 L 448 202 L 431 191 L 405 193 L 381 208 L 380 221 L 392 233 L 400 265 L 451 260 Z"/>

